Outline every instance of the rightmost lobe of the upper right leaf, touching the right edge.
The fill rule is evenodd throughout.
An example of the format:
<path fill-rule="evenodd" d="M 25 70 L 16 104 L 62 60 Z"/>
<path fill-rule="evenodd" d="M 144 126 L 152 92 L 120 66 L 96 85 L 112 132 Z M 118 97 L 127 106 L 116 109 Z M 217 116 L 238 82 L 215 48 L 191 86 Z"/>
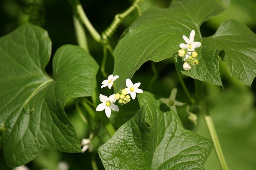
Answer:
<path fill-rule="evenodd" d="M 223 22 L 206 41 L 225 51 L 224 62 L 231 76 L 250 86 L 256 76 L 256 35 L 246 25 L 236 21 Z"/>

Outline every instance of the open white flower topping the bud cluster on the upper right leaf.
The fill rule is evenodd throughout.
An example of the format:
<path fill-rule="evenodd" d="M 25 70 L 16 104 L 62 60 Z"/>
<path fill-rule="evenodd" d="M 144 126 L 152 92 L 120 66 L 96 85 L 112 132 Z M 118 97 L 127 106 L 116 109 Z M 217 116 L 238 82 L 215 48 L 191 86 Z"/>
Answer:
<path fill-rule="evenodd" d="M 194 29 L 192 29 L 192 31 L 189 35 L 189 39 L 185 35 L 183 35 L 182 37 L 183 37 L 184 41 L 187 43 L 187 44 L 184 44 L 184 43 L 180 44 L 180 48 L 182 48 L 182 49 L 187 49 L 188 51 L 195 51 L 195 48 L 198 48 L 201 46 L 200 42 L 198 42 L 198 41 L 194 42 L 194 37 L 195 37 Z"/>

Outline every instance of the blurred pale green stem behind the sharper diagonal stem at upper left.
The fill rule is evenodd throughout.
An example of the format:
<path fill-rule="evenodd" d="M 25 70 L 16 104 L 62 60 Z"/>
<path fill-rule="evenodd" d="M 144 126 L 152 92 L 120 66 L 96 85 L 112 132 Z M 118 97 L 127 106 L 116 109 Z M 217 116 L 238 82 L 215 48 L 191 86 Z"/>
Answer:
<path fill-rule="evenodd" d="M 80 20 L 76 17 L 76 15 L 73 15 L 73 21 L 74 21 L 77 44 L 83 49 L 85 49 L 85 51 L 89 52 L 84 28 L 81 25 Z"/>

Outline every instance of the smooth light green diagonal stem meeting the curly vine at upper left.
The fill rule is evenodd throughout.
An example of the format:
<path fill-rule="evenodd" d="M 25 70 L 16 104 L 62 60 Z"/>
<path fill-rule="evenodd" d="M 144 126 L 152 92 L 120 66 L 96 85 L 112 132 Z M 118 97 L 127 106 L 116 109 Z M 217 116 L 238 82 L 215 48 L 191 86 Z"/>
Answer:
<path fill-rule="evenodd" d="M 88 29 L 88 31 L 90 32 L 92 37 L 95 39 L 95 41 L 102 43 L 100 34 L 96 31 L 96 29 L 92 26 L 92 24 L 88 20 L 81 4 L 76 5 L 76 10 L 77 10 L 79 16 L 81 17 L 81 20 L 83 21 L 84 25 L 86 26 L 86 28 Z"/>

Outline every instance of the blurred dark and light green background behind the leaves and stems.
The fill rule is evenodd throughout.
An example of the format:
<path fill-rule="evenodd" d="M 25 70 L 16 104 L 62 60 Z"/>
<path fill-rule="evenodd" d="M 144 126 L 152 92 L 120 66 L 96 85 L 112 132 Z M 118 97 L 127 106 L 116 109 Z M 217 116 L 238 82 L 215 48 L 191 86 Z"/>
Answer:
<path fill-rule="evenodd" d="M 256 32 L 256 1 L 255 0 L 216 0 L 226 10 L 201 26 L 203 37 L 213 35 L 225 20 L 236 19 L 247 25 L 254 33 Z M 81 4 L 95 29 L 102 33 L 113 20 L 114 16 L 123 12 L 132 4 L 133 0 L 81 0 Z M 167 8 L 170 6 L 171 0 L 144 0 L 140 2 L 143 11 L 150 6 L 159 6 Z M 129 27 L 132 21 L 138 17 L 137 12 L 133 12 L 124 19 L 117 32 L 110 39 L 112 47 L 116 45 L 122 32 Z M 10 33 L 24 23 L 34 23 L 46 29 L 52 40 L 52 56 L 61 45 L 75 44 L 76 36 L 72 19 L 72 8 L 68 0 L 1 0 L 0 1 L 0 36 Z M 88 45 L 90 54 L 100 64 L 102 61 L 102 46 L 94 41 L 88 35 Z M 108 67 L 106 72 L 112 73 L 114 60 L 108 56 Z M 180 86 L 176 70 L 172 59 L 166 59 L 155 64 L 158 72 L 157 79 L 153 82 L 152 87 L 148 86 L 148 82 L 152 78 L 151 63 L 147 62 L 142 65 L 140 70 L 133 77 L 134 82 L 141 82 L 141 88 L 150 91 L 159 98 L 168 98 L 172 88 L 178 88 L 176 100 L 186 102 L 185 94 Z M 46 71 L 51 75 L 51 61 Z M 230 170 L 255 170 L 256 169 L 256 81 L 252 83 L 251 88 L 238 82 L 235 78 L 231 78 L 228 74 L 226 64 L 220 61 L 220 72 L 224 89 L 222 87 L 205 84 L 205 91 L 208 100 L 208 106 L 212 119 L 214 121 L 216 131 L 219 135 L 220 143 L 226 156 L 226 160 Z M 100 71 L 97 75 L 100 84 L 103 76 Z M 194 92 L 193 79 L 184 76 L 189 90 Z M 110 91 L 106 91 L 110 93 Z M 75 107 L 75 99 L 66 102 L 66 113 L 76 127 L 78 137 L 88 138 L 89 130 L 80 119 Z M 111 117 L 116 125 L 120 127 L 128 121 L 138 110 L 138 102 L 133 102 L 134 107 L 129 109 L 120 108 L 119 114 L 114 113 Z M 204 119 L 197 110 L 198 124 L 193 125 L 188 121 L 186 116 L 186 108 L 179 107 L 178 114 L 186 129 L 196 131 L 200 135 L 210 138 Z M 103 141 L 95 139 L 94 145 L 98 147 L 102 142 L 108 140 L 104 130 L 100 133 Z M 90 170 L 92 154 L 88 151 L 85 153 L 70 154 L 57 150 L 44 150 L 36 159 L 29 162 L 28 166 L 31 170 L 64 170 L 60 168 L 60 162 L 66 162 L 69 170 Z M 99 169 L 104 169 L 100 159 L 97 157 Z M 221 170 L 214 150 L 210 154 L 205 164 L 206 170 Z M 2 158 L 0 150 L 0 170 L 8 170 Z"/>

